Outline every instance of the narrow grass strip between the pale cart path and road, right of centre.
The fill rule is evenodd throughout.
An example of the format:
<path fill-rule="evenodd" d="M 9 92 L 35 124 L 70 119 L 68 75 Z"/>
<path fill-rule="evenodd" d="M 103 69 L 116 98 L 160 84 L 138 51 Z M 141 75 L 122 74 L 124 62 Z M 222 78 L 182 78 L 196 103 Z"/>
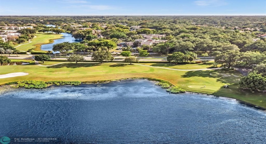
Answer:
<path fill-rule="evenodd" d="M 179 70 L 193 70 L 193 69 L 203 69 L 203 68 L 209 68 L 213 66 L 213 61 L 207 62 L 207 63 L 201 63 L 201 64 L 170 64 L 170 63 L 140 63 L 143 65 L 148 66 L 159 66 L 164 68 L 173 68 L 173 69 L 179 69 Z M 220 67 L 221 64 L 218 64 L 218 67 Z"/>

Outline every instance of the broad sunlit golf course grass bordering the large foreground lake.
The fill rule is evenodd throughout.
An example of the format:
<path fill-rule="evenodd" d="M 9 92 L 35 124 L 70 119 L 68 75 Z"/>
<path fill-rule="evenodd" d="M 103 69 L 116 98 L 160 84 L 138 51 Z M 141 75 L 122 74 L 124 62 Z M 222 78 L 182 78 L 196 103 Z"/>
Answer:
<path fill-rule="evenodd" d="M 187 68 L 191 64 L 187 64 Z M 179 68 L 178 68 L 179 69 Z M 266 95 L 239 88 L 242 77 L 238 71 L 198 70 L 176 71 L 124 63 L 64 63 L 54 66 L 18 65 L 1 66 L 0 74 L 27 72 L 27 76 L 1 79 L 0 84 L 21 80 L 117 80 L 123 78 L 157 78 L 191 92 L 236 98 L 266 108 Z M 223 88 L 229 84 L 229 88 Z M 206 87 L 204 88 L 204 85 Z"/>

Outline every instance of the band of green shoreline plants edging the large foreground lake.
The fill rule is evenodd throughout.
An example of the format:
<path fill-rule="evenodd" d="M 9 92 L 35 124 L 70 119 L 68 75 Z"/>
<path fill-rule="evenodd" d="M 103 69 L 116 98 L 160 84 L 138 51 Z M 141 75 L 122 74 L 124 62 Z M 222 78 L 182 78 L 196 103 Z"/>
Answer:
<path fill-rule="evenodd" d="M 184 90 L 182 88 L 178 88 L 177 86 L 174 86 L 173 84 L 171 84 L 170 82 L 167 82 L 165 80 L 160 80 L 160 79 L 156 79 L 156 78 L 123 78 L 123 79 L 116 79 L 116 80 L 94 80 L 94 81 L 84 81 L 84 82 L 80 82 L 80 81 L 34 81 L 34 80 L 24 80 L 24 81 L 19 81 L 19 82 L 9 82 L 6 84 L 2 84 L 0 85 L 0 94 L 3 92 L 8 92 L 9 90 L 14 90 L 14 88 L 36 88 L 36 89 L 41 89 L 40 85 L 43 86 L 42 88 L 47 88 L 49 86 L 62 86 L 62 85 L 72 85 L 72 86 L 78 86 L 81 84 L 107 84 L 107 83 L 112 83 L 112 82 L 120 82 L 122 80 L 140 80 L 140 79 L 146 79 L 149 81 L 153 81 L 153 82 L 157 82 L 155 83 L 155 85 L 161 86 L 161 88 L 166 89 L 166 92 L 170 92 L 172 94 L 179 94 L 179 93 L 185 93 L 185 92 L 189 92 L 189 93 L 195 93 L 195 94 L 204 94 L 207 96 L 210 96 L 210 94 L 207 93 L 203 93 L 203 92 L 193 92 L 193 91 L 189 91 L 189 90 Z M 33 85 L 37 84 L 36 87 L 34 87 Z M 45 86 L 46 84 L 46 86 Z M 231 97 L 227 97 L 227 96 L 216 96 L 216 95 L 211 95 L 211 96 L 215 96 L 215 97 L 225 97 L 225 98 L 231 98 Z M 254 107 L 256 109 L 260 109 L 265 111 L 266 108 L 263 108 L 261 106 L 257 106 L 254 104 L 251 104 L 249 102 L 245 102 L 236 98 L 232 98 L 235 99 L 247 106 L 250 107 Z"/>

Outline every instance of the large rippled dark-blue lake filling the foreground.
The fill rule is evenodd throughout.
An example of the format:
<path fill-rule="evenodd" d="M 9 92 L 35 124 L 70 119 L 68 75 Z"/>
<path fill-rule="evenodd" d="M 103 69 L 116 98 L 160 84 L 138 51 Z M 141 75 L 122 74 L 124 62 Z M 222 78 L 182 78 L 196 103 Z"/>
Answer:
<path fill-rule="evenodd" d="M 265 111 L 147 80 L 17 89 L 1 94 L 0 114 L 11 143 L 266 143 Z"/>

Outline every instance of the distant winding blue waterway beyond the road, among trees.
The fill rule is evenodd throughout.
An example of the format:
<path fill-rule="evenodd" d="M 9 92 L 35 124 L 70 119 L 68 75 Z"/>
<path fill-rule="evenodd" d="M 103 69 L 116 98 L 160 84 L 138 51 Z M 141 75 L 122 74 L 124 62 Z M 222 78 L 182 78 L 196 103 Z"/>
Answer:
<path fill-rule="evenodd" d="M 55 25 L 46 25 L 46 26 L 52 26 L 55 27 Z M 54 44 L 62 43 L 62 42 L 81 42 L 80 40 L 76 40 L 74 37 L 72 37 L 72 34 L 69 33 L 61 33 L 63 35 L 63 38 L 59 38 L 54 40 L 51 44 L 43 44 L 41 45 L 41 50 L 52 50 Z"/>

